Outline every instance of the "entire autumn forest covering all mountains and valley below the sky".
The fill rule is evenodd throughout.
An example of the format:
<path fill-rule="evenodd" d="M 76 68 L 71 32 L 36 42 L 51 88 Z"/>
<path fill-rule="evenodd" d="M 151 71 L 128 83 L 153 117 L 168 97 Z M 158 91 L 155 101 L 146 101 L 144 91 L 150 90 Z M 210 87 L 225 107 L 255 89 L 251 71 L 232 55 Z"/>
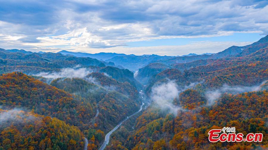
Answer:
<path fill-rule="evenodd" d="M 0 49 L 0 150 L 96 150 L 116 126 L 107 150 L 267 149 L 267 46 L 108 61 Z M 263 140 L 211 143 L 223 127 Z"/>

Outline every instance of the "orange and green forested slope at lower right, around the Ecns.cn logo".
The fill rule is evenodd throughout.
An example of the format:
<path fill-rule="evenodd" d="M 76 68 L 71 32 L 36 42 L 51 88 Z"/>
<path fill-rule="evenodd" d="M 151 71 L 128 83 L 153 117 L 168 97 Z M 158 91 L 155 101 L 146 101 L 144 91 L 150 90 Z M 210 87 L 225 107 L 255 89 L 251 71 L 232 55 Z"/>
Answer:
<path fill-rule="evenodd" d="M 192 97 L 191 95 L 188 95 Z M 120 145 L 108 149 L 265 149 L 267 147 L 267 91 L 224 95 L 211 107 L 165 114 L 149 108 L 138 119 L 136 130 Z M 263 142 L 208 141 L 208 131 L 236 127 L 239 133 L 262 133 Z M 120 131 L 118 131 L 120 132 Z M 114 136 L 114 138 L 116 135 Z M 115 141 L 114 141 L 115 142 Z"/>

